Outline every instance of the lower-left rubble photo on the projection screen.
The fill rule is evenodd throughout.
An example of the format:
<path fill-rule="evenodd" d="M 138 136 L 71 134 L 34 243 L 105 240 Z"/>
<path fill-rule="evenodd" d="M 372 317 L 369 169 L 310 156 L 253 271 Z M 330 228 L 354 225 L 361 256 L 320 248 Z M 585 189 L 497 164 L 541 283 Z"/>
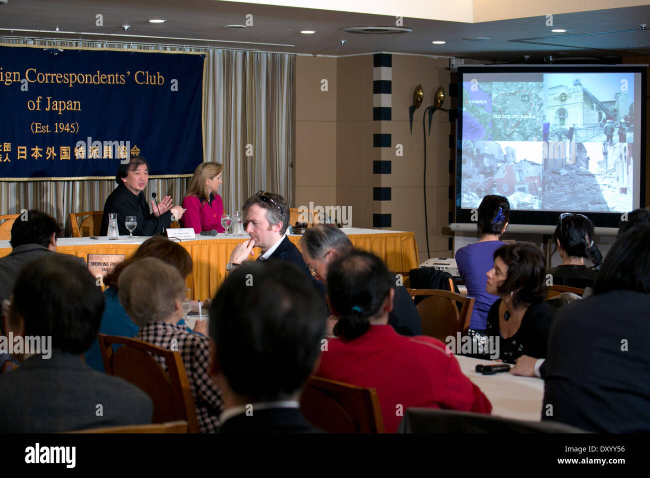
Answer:
<path fill-rule="evenodd" d="M 461 207 L 500 194 L 510 209 L 541 209 L 541 142 L 463 141 Z"/>

